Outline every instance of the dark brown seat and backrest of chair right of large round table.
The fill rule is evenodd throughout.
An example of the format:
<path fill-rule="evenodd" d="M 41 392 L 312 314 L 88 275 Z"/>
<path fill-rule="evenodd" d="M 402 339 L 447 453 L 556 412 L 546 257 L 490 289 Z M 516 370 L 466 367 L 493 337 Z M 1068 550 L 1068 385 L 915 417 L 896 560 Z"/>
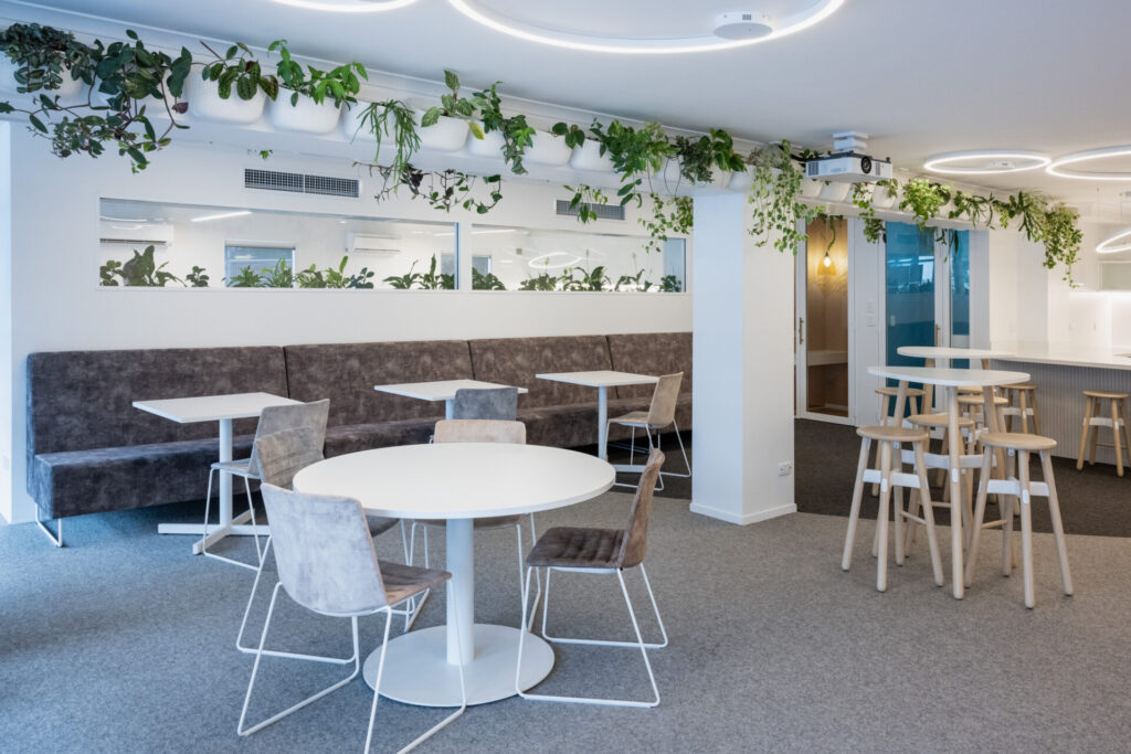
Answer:
<path fill-rule="evenodd" d="M 538 538 L 526 564 L 530 567 L 630 569 L 642 563 L 656 479 L 663 465 L 664 453 L 653 450 L 624 529 L 554 527 Z"/>

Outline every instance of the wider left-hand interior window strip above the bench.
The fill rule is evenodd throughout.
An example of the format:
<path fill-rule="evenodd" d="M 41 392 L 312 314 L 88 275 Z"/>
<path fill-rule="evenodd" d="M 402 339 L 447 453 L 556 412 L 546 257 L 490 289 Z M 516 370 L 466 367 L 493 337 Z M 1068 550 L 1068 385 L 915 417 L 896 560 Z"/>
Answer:
<path fill-rule="evenodd" d="M 454 289 L 454 223 L 102 199 L 111 287 Z"/>

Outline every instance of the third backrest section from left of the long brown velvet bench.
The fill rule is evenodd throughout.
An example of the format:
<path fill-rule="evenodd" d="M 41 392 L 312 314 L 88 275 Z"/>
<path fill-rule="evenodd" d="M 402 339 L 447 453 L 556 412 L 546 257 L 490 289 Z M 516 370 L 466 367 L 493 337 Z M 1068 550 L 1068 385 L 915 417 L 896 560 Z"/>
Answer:
<path fill-rule="evenodd" d="M 603 335 L 554 338 L 489 338 L 468 341 L 476 380 L 527 388 L 519 408 L 596 404 L 594 388 L 539 380 L 546 372 L 588 372 L 613 369 Z"/>

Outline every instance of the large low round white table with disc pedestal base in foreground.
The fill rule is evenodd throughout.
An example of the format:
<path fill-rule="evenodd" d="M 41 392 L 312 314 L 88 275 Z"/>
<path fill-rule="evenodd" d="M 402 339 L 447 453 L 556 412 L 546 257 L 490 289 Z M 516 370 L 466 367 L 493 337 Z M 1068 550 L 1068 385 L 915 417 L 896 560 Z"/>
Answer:
<path fill-rule="evenodd" d="M 294 478 L 304 494 L 361 502 L 366 513 L 398 519 L 447 519 L 447 570 L 459 607 L 457 641 L 452 600 L 447 625 L 391 639 L 381 695 L 407 704 L 459 707 L 463 644 L 467 703 L 515 695 L 519 629 L 475 623 L 473 520 L 537 513 L 606 492 L 613 467 L 594 456 L 545 445 L 435 443 L 398 445 L 319 461 Z M 517 597 L 516 597 L 517 599 Z M 379 651 L 365 660 L 365 681 L 377 676 Z M 527 635 L 521 683 L 529 688 L 553 668 L 550 645 Z"/>

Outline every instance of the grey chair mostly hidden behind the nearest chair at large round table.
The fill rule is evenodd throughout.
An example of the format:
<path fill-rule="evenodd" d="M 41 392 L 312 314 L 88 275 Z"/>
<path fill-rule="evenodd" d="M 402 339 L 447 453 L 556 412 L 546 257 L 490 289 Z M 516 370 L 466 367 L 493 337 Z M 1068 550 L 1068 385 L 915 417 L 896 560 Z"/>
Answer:
<path fill-rule="evenodd" d="M 322 460 L 322 437 L 310 426 L 293 427 L 275 432 L 259 437 L 254 443 L 254 457 L 259 463 L 260 477 L 265 484 L 290 489 L 295 475 L 311 463 Z M 369 526 L 370 536 L 388 531 L 392 527 L 400 525 L 400 544 L 404 548 L 405 558 L 408 557 L 408 540 L 405 537 L 405 525 L 397 519 L 381 515 L 366 515 L 365 522 Z M 243 619 L 240 621 L 240 632 L 235 636 L 235 648 L 244 653 L 256 652 L 256 648 L 243 643 L 243 632 L 248 627 L 248 617 L 251 615 L 251 606 L 256 601 L 259 591 L 259 582 L 264 578 L 264 569 L 267 564 L 268 554 L 271 549 L 271 537 L 268 535 L 267 545 L 264 547 L 262 556 L 259 560 L 259 567 L 256 569 L 256 580 L 251 584 L 251 593 L 248 595 L 248 604 L 243 608 Z M 408 621 L 409 610 L 395 609 L 394 613 L 404 615 Z M 406 627 L 407 630 L 407 627 Z M 266 652 L 275 657 L 288 657 L 291 659 L 312 660 L 318 662 L 343 664 L 349 658 L 323 657 L 320 655 L 302 655 L 295 652 L 283 652 L 270 650 Z"/>

